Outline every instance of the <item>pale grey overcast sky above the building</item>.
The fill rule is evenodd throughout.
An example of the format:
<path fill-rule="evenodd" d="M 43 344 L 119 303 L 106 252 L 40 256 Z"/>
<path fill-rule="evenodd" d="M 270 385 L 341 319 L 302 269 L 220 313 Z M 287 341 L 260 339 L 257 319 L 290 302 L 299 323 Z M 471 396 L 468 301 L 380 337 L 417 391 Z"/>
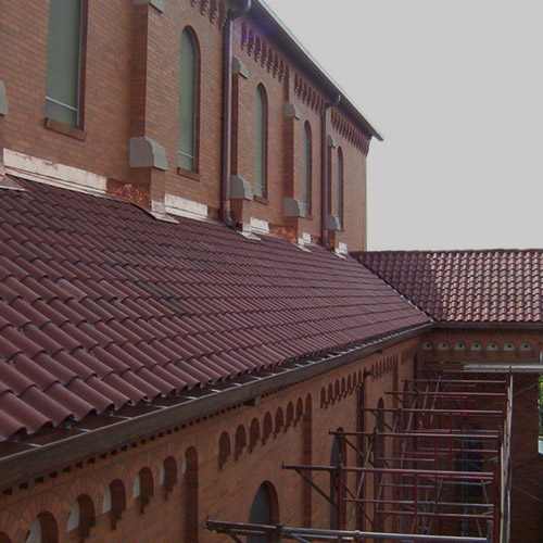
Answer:
<path fill-rule="evenodd" d="M 368 248 L 543 247 L 543 0 L 267 0 L 384 136 Z"/>

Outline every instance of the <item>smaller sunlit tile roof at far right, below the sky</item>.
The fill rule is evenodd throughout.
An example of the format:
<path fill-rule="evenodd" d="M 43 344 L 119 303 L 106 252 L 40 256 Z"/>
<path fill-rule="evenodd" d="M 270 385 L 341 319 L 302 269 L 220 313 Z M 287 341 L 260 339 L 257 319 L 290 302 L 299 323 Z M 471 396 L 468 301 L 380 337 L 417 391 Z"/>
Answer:
<path fill-rule="evenodd" d="M 435 320 L 543 321 L 543 250 L 367 252 L 358 258 Z"/>

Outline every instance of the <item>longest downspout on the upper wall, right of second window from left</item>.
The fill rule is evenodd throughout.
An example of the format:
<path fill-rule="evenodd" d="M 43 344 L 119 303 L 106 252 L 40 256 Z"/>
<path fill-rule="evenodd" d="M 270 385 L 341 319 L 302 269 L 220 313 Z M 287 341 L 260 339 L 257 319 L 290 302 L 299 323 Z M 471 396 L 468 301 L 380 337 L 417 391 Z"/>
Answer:
<path fill-rule="evenodd" d="M 252 0 L 228 13 L 223 34 L 223 160 L 220 166 L 220 218 L 235 227 L 230 213 L 230 153 L 232 126 L 232 28 L 233 21 L 251 11 Z"/>

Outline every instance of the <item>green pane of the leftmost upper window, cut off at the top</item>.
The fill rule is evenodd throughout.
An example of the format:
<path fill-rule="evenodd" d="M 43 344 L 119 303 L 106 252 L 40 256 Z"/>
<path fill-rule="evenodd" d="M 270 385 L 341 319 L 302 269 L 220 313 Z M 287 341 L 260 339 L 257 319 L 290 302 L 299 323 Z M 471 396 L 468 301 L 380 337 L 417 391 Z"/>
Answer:
<path fill-rule="evenodd" d="M 79 124 L 81 0 L 51 0 L 47 45 L 46 116 Z"/>

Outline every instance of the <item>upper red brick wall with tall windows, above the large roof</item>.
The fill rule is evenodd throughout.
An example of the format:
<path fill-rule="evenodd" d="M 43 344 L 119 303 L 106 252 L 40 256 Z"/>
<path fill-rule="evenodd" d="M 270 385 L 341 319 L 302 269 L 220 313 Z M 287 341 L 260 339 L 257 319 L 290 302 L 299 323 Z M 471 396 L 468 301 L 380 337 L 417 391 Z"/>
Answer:
<path fill-rule="evenodd" d="M 166 151 L 168 169 L 162 177 L 165 190 L 189 200 L 219 207 L 222 134 L 222 40 L 224 17 L 210 12 L 207 2 L 166 2 L 164 13 L 131 2 L 88 2 L 88 35 L 85 58 L 85 141 L 45 127 L 48 2 L 31 12 L 21 2 L 1 0 L 0 74 L 10 100 L 10 113 L 2 119 L 3 146 L 53 163 L 89 171 L 122 182 L 137 181 L 128 168 L 130 136 L 155 139 Z M 216 5 L 225 5 L 222 2 Z M 202 12 L 203 11 L 203 12 Z M 242 24 L 255 31 L 256 46 L 242 43 Z M 199 108 L 199 172 L 177 172 L 177 117 L 180 34 L 193 28 L 201 59 Z M 235 24 L 233 54 L 249 68 L 249 78 L 239 79 L 239 134 L 237 173 L 253 182 L 255 89 L 263 84 L 268 97 L 268 202 L 252 202 L 250 214 L 272 225 L 291 222 L 282 215 L 286 161 L 292 163 L 293 193 L 302 199 L 302 130 L 305 121 L 313 134 L 313 218 L 300 219 L 298 233 L 320 236 L 320 112 L 326 97 L 305 68 L 289 60 L 289 52 L 257 24 L 240 20 Z M 275 64 L 265 52 L 274 51 Z M 264 60 L 263 60 L 264 59 Z M 302 81 L 303 77 L 303 81 Z M 298 83 L 302 81 L 302 83 Z M 286 148 L 285 101 L 302 114 L 294 122 L 294 149 Z M 331 114 L 329 113 L 329 116 Z M 344 119 L 346 123 L 348 119 Z M 348 126 L 348 125 L 345 125 Z M 350 129 L 355 127 L 350 124 Z M 339 130 L 339 131 L 338 131 Z M 365 155 L 352 134 L 329 123 L 329 132 L 340 141 L 345 156 L 345 231 L 339 240 L 350 250 L 364 248 Z M 340 136 L 340 132 L 344 137 Z M 350 136 L 351 135 L 351 136 Z M 292 142 L 291 142 L 292 144 Z"/>

